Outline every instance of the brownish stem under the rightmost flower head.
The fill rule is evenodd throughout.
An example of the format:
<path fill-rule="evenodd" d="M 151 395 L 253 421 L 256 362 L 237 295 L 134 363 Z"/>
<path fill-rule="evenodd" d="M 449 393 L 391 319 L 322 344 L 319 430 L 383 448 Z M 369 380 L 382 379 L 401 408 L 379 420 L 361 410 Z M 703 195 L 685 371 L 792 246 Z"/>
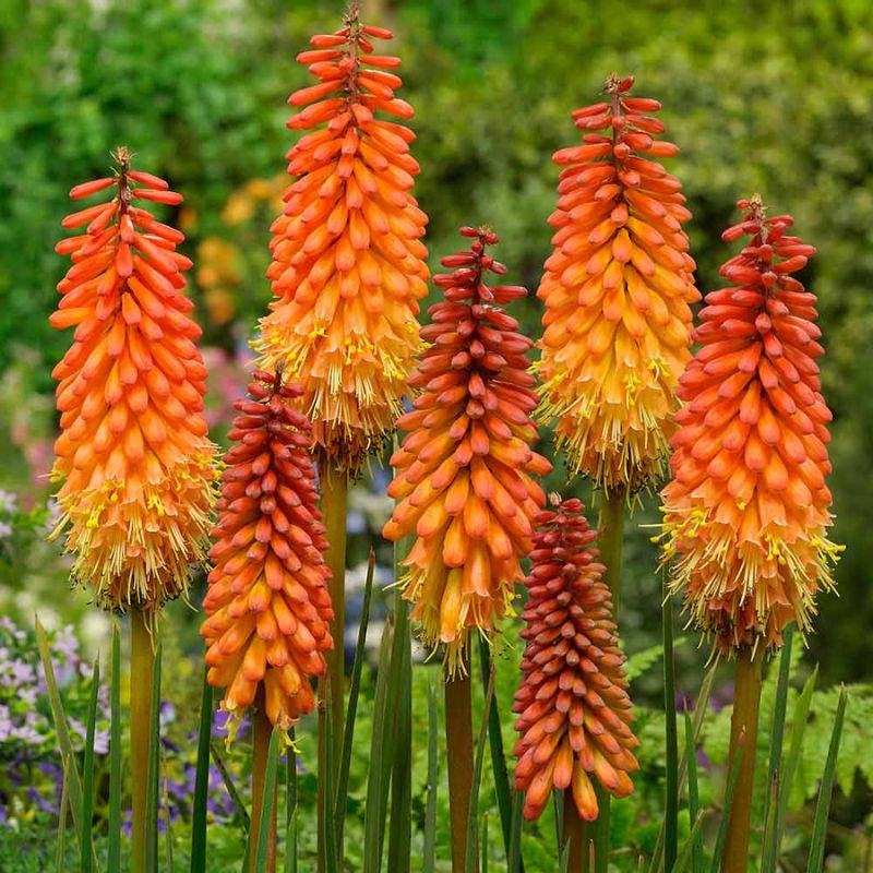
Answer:
<path fill-rule="evenodd" d="M 755 781 L 757 716 L 761 706 L 761 668 L 764 648 L 744 646 L 737 653 L 737 683 L 733 714 L 730 719 L 730 754 L 733 761 L 741 745 L 740 770 L 728 820 L 721 873 L 746 873 L 749 868 L 749 830 L 752 817 L 752 787 Z"/>

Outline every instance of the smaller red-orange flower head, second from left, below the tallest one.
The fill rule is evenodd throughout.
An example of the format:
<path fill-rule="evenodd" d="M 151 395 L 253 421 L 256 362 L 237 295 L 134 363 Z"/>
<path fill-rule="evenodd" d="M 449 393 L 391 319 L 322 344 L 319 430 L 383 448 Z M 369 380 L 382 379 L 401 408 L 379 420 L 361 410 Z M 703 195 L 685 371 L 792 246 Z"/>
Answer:
<path fill-rule="evenodd" d="M 208 682 L 226 689 L 235 723 L 263 685 L 266 714 L 283 729 L 315 705 L 310 678 L 332 648 L 327 548 L 309 455 L 310 424 L 289 404 L 300 388 L 255 372 L 228 434 L 214 569 L 203 608 Z"/>

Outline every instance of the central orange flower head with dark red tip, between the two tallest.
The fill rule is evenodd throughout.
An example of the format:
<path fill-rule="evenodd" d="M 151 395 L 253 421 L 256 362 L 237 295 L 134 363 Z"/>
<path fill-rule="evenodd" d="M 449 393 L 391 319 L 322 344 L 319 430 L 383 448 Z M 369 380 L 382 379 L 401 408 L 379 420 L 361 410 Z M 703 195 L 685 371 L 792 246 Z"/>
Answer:
<path fill-rule="evenodd" d="M 423 639 L 446 645 L 451 671 L 470 627 L 486 633 L 505 613 L 519 559 L 530 550 L 533 519 L 545 503 L 534 479 L 551 469 L 530 444 L 537 405 L 526 352 L 534 345 L 495 303 L 527 291 L 485 284 L 503 264 L 486 253 L 488 228 L 462 228 L 469 251 L 442 260 L 454 273 L 434 277 L 445 302 L 429 310 L 421 331 L 432 343 L 410 380 L 422 393 L 397 426 L 408 431 L 391 463 L 388 495 L 398 500 L 384 536 L 415 536 L 404 564 L 404 596 Z"/>

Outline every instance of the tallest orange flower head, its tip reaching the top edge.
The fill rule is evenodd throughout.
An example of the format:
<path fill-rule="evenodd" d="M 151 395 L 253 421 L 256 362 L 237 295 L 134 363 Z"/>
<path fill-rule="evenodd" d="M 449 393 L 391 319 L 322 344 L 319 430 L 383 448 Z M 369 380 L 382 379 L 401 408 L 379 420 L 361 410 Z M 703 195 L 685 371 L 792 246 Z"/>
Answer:
<path fill-rule="evenodd" d="M 296 92 L 288 122 L 313 130 L 291 148 L 285 213 L 273 225 L 267 275 L 278 298 L 255 348 L 264 369 L 284 362 L 303 386 L 313 441 L 351 469 L 393 428 L 420 343 L 427 294 L 427 216 L 410 191 L 418 164 L 412 107 L 394 96 L 399 58 L 373 55 L 381 27 L 352 7 L 335 34 L 298 56 L 320 84 Z M 324 125 L 326 122 L 326 127 Z"/>

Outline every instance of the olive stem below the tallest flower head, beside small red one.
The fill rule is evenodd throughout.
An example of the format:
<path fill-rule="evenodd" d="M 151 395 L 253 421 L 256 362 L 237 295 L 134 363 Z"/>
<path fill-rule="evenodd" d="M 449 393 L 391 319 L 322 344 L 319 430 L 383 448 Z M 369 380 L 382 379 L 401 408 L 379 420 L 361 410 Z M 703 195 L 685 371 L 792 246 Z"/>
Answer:
<path fill-rule="evenodd" d="M 324 526 L 327 529 L 327 551 L 325 561 L 331 569 L 331 600 L 334 608 L 334 620 L 331 634 L 334 647 L 324 653 L 327 661 L 327 675 L 319 679 L 319 694 L 322 699 L 325 693 L 331 695 L 331 743 L 333 745 L 331 761 L 334 773 L 332 785 L 337 785 L 339 762 L 343 757 L 344 726 L 344 689 L 345 689 L 345 646 L 343 637 L 346 621 L 346 507 L 348 504 L 348 474 L 339 469 L 330 458 L 320 463 L 321 509 Z M 333 809 L 333 799 L 324 803 L 325 772 L 327 754 L 325 749 L 326 730 L 324 709 L 319 709 L 319 871 L 326 869 L 324 811 Z M 342 858 L 342 846 L 337 847 L 337 857 Z"/>

